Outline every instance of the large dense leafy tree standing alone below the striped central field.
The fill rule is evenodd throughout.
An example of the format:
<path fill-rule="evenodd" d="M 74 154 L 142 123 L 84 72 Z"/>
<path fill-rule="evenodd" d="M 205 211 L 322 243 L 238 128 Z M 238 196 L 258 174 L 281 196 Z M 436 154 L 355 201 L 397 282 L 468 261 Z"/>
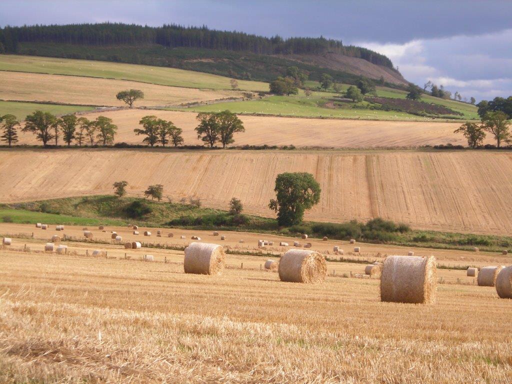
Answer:
<path fill-rule="evenodd" d="M 275 179 L 276 199 L 270 200 L 270 209 L 278 212 L 281 226 L 300 224 L 306 209 L 320 201 L 321 188 L 313 175 L 284 173 Z"/>

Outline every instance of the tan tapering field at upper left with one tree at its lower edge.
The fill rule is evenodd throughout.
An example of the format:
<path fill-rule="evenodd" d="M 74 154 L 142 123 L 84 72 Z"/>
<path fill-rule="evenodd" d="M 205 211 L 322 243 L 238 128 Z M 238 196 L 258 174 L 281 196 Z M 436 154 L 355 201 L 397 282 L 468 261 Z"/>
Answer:
<path fill-rule="evenodd" d="M 117 100 L 116 94 L 132 88 L 144 92 L 144 99 L 136 101 L 136 106 L 180 105 L 242 97 L 242 93 L 238 91 L 166 87 L 134 81 L 79 76 L 2 72 L 0 99 L 125 106 L 123 101 Z"/>

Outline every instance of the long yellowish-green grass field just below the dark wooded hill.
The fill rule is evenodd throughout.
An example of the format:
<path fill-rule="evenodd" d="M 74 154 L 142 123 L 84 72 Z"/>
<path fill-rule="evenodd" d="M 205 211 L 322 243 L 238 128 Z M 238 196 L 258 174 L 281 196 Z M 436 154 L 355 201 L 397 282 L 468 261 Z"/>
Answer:
<path fill-rule="evenodd" d="M 230 78 L 224 76 L 107 61 L 0 55 L 0 70 L 124 79 L 186 88 L 231 89 Z M 238 88 L 244 91 L 268 91 L 266 82 L 237 81 Z"/>

